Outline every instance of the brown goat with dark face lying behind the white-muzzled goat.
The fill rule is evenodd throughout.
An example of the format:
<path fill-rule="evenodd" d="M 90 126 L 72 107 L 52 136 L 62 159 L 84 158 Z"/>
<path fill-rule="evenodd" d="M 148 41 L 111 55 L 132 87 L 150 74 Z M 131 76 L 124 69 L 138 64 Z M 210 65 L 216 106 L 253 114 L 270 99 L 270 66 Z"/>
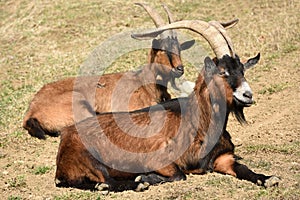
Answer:
<path fill-rule="evenodd" d="M 164 24 L 148 5 L 138 5 L 157 27 Z M 172 16 L 164 8 L 171 23 Z M 180 51 L 193 44 L 194 40 L 180 45 L 170 30 L 153 40 L 149 64 L 138 72 L 72 77 L 46 84 L 31 101 L 23 127 L 30 135 L 45 139 L 45 135 L 58 136 L 61 128 L 95 113 L 136 110 L 170 99 L 168 82 L 175 87 L 174 79 L 184 73 Z M 158 76 L 161 80 L 156 82 Z"/>

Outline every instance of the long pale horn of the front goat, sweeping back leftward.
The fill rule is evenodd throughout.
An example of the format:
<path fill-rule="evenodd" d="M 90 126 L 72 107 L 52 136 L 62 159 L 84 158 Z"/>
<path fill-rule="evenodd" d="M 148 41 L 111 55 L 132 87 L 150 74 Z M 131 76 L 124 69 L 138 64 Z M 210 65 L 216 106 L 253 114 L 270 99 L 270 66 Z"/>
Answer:
<path fill-rule="evenodd" d="M 201 20 L 183 20 L 174 22 L 153 31 L 141 34 L 132 34 L 131 36 L 135 39 L 149 39 L 156 37 L 165 30 L 181 28 L 189 29 L 202 35 L 208 41 L 218 59 L 222 58 L 226 54 L 231 55 L 231 48 L 223 34 L 215 26 Z"/>

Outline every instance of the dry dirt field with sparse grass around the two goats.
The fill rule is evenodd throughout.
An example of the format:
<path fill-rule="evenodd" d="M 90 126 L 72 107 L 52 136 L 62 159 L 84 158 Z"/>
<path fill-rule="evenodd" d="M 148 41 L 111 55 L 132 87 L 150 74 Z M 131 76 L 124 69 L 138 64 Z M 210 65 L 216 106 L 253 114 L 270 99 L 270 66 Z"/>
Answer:
<path fill-rule="evenodd" d="M 232 118 L 228 130 L 241 162 L 281 177 L 278 187 L 265 189 L 217 173 L 190 175 L 141 193 L 103 195 L 55 187 L 59 138 L 30 137 L 22 128 L 24 113 L 44 84 L 75 76 L 102 41 L 122 31 L 154 27 L 133 2 L 0 1 L 1 199 L 299 199 L 300 3 L 292 0 L 163 1 L 177 19 L 239 18 L 228 31 L 237 53 L 246 60 L 261 52 L 259 64 L 246 74 L 256 102 L 245 109 L 249 124 L 241 126 Z M 151 5 L 162 11 L 161 3 Z M 118 70 L 146 60 L 145 52 L 137 54 L 119 61 Z"/>

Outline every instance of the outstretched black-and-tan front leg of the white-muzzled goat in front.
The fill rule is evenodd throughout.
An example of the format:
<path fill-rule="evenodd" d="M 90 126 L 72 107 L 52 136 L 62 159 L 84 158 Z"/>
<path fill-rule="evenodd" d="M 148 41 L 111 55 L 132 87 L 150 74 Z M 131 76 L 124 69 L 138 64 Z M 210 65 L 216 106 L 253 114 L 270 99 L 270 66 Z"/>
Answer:
<path fill-rule="evenodd" d="M 246 165 L 236 162 L 231 153 L 222 154 L 215 160 L 214 171 L 230 174 L 238 179 L 251 181 L 264 187 L 277 186 L 280 181 L 276 176 L 266 176 L 253 172 Z"/>

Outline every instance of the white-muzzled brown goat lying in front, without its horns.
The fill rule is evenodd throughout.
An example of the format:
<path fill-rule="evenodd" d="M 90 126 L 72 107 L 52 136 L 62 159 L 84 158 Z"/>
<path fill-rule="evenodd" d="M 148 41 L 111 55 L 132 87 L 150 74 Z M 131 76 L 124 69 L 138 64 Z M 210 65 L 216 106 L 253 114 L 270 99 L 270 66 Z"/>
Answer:
<path fill-rule="evenodd" d="M 279 178 L 238 163 L 226 131 L 228 115 L 244 119 L 253 102 L 239 58 L 224 55 L 204 61 L 194 92 L 185 99 L 129 113 L 105 113 L 65 127 L 57 154 L 56 185 L 122 191 L 149 184 L 185 180 L 208 170 L 265 187 Z M 247 67 L 245 67 L 247 66 Z M 135 179 L 138 176 L 137 179 Z M 99 186 L 99 185 L 98 185 Z"/>

